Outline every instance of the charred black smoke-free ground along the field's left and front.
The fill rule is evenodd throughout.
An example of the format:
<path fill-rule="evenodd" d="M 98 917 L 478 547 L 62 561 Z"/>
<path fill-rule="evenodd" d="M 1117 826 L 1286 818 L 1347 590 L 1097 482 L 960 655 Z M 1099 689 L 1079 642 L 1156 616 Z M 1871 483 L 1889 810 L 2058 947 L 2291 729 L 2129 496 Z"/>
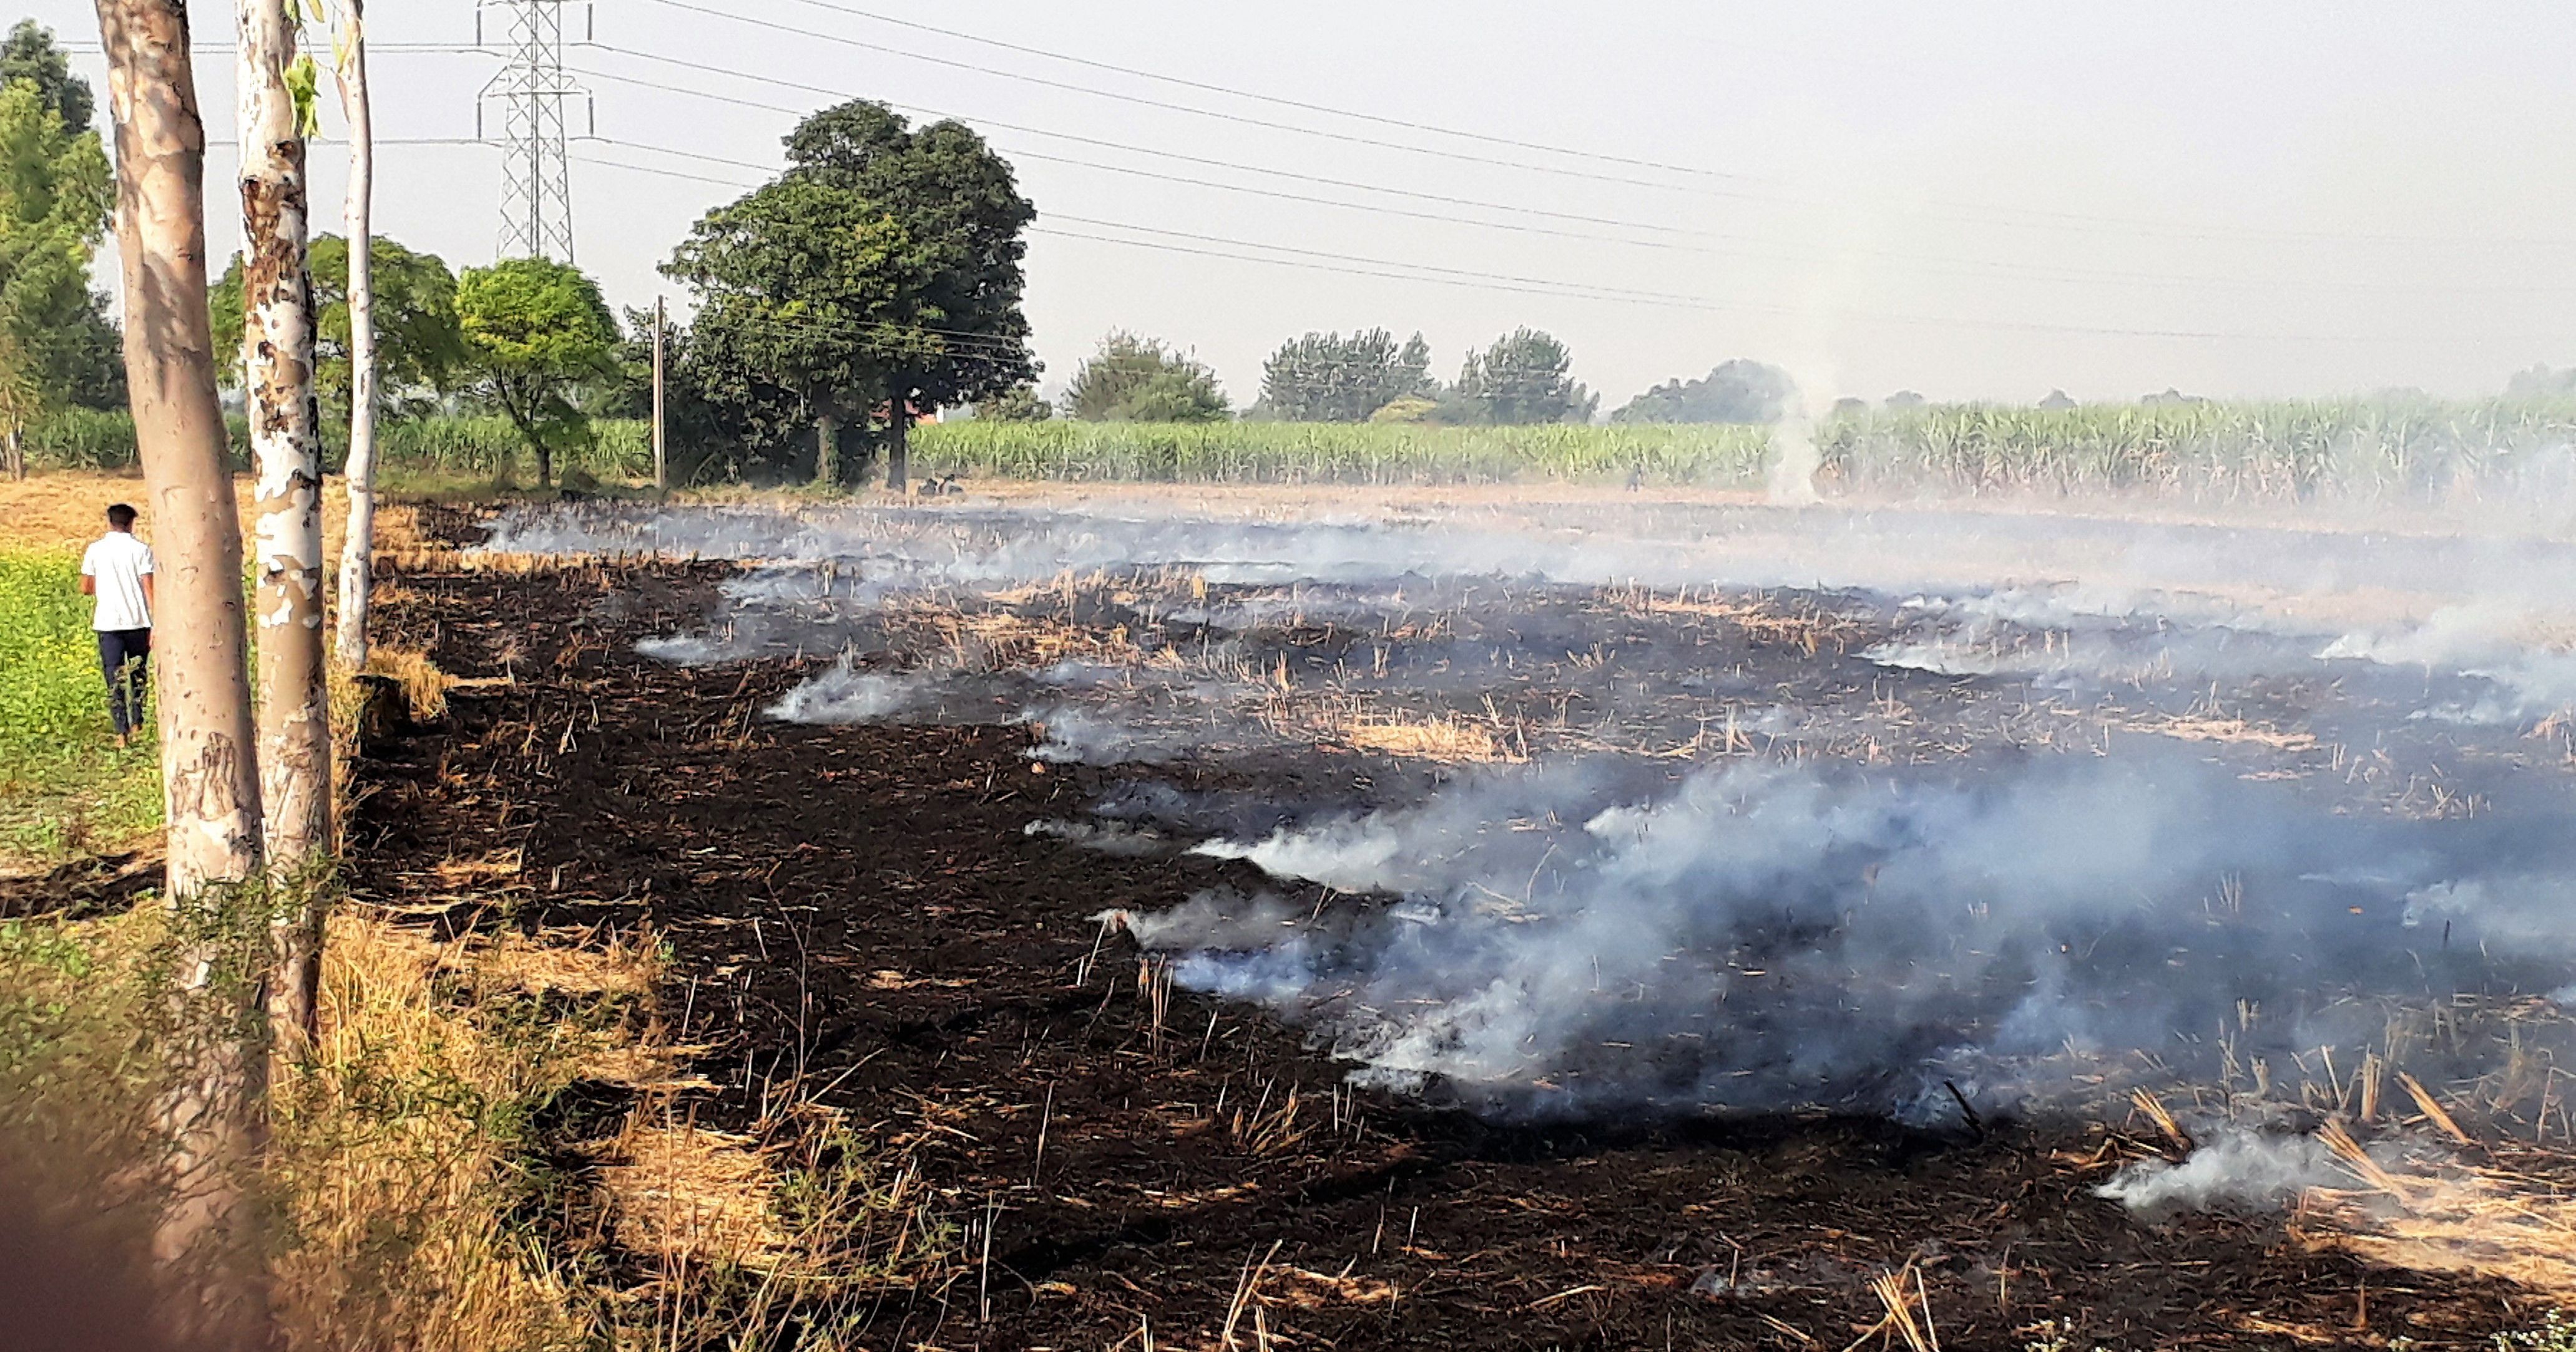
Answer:
<path fill-rule="evenodd" d="M 1355 1094 L 1296 1030 L 1172 989 L 1092 919 L 1249 865 L 1025 832 L 1128 770 L 1030 760 L 1025 726 L 760 718 L 817 657 L 636 657 L 729 574 L 389 574 L 392 639 L 464 685 L 358 765 L 355 894 L 440 927 L 665 935 L 706 1118 L 819 1094 L 963 1226 L 943 1280 L 889 1290 L 873 1347 L 1904 1347 L 1886 1272 L 1911 1272 L 1945 1349 L 2486 1347 L 2537 1311 L 2282 1216 L 2146 1226 L 2089 1192 L 2143 1151 L 2112 1128 L 1497 1125 Z M 1430 770 L 1334 747 L 1177 773 L 1365 803 Z M 464 886 L 459 860 L 513 868 Z"/>

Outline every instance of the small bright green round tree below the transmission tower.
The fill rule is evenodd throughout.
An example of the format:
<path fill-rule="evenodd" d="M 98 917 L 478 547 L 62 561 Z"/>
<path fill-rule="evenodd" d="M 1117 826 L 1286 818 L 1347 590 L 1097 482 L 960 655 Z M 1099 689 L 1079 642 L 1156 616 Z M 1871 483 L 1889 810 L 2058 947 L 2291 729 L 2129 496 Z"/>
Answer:
<path fill-rule="evenodd" d="M 616 373 L 618 322 L 600 283 L 569 263 L 507 258 L 456 278 L 464 373 L 536 451 L 536 482 L 554 482 L 554 453 L 590 443 L 577 397 Z"/>

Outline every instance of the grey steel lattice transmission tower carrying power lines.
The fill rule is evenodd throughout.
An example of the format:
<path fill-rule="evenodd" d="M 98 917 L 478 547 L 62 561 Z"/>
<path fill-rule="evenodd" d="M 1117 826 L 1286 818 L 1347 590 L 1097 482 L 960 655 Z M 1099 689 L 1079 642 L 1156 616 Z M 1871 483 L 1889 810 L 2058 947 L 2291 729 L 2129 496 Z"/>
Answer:
<path fill-rule="evenodd" d="M 474 5 L 474 44 L 482 46 L 484 10 L 500 10 L 510 59 L 474 98 L 474 134 L 484 134 L 484 106 L 500 103 L 500 258 L 551 258 L 572 263 L 572 160 L 564 142 L 572 103 L 587 131 L 598 131 L 590 90 L 564 75 L 564 10 L 587 0 L 482 0 Z"/>

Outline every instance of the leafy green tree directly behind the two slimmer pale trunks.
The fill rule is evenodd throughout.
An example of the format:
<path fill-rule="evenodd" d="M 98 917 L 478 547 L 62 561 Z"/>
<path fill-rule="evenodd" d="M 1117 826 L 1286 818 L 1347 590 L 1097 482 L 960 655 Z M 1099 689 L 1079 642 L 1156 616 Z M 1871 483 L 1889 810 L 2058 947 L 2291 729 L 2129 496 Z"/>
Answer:
<path fill-rule="evenodd" d="M 317 234 L 309 250 L 314 278 L 314 376 L 327 422 L 348 422 L 348 239 Z M 376 389 L 379 409 L 420 415 L 430 399 L 456 386 L 466 363 L 456 324 L 456 273 L 435 252 L 415 252 L 376 237 Z M 214 332 L 242 332 L 242 255 L 206 291 Z M 224 353 L 224 381 L 240 386 L 242 355 Z"/>

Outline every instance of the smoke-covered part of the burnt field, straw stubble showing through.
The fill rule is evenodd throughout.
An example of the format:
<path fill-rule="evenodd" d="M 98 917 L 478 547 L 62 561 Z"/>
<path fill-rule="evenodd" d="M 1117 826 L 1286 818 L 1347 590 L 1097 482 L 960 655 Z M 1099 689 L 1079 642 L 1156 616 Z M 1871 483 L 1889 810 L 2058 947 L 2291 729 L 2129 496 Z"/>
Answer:
<path fill-rule="evenodd" d="M 760 561 L 647 652 L 829 657 L 781 718 L 1023 721 L 1038 757 L 1103 765 L 1463 762 L 1404 801 L 1239 788 L 1033 824 L 1244 860 L 1257 883 L 1128 927 L 1406 1092 L 2308 1102 L 2362 1058 L 2473 1079 L 2568 1028 L 2543 999 L 2576 961 L 2568 785 L 2532 737 L 2558 703 L 2514 677 L 2558 652 L 2540 621 L 2455 641 L 2452 618 L 2491 590 L 2576 608 L 2550 541 L 1108 502 L 549 512 L 495 549 Z M 1388 718 L 1409 739 L 1358 737 Z"/>

